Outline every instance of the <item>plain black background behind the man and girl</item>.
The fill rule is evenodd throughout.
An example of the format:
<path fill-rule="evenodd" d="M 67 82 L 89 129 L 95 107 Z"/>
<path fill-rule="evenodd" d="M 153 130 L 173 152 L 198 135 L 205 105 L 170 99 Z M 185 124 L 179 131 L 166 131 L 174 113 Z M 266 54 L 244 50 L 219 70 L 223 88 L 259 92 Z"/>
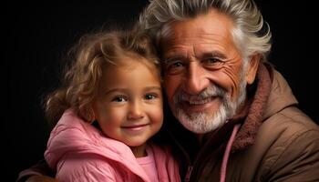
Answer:
<path fill-rule="evenodd" d="M 18 172 L 43 157 L 50 126 L 41 100 L 58 86 L 61 60 L 69 47 L 84 33 L 129 25 L 146 4 L 147 0 L 5 3 L 1 58 L 5 145 L 1 164 L 7 181 L 15 181 Z M 314 7 L 298 1 L 259 0 L 257 4 L 273 31 L 270 61 L 292 86 L 300 108 L 318 123 L 314 86 L 318 84 L 318 31 L 314 28 L 318 21 Z"/>

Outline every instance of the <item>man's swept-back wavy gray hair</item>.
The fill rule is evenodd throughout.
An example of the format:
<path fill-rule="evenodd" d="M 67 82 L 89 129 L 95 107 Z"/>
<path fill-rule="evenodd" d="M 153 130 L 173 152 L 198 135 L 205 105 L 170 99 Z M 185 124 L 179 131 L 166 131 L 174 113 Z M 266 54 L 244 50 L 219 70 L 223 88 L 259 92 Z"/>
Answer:
<path fill-rule="evenodd" d="M 260 54 L 262 61 L 267 61 L 272 34 L 253 0 L 149 0 L 139 25 L 159 46 L 170 23 L 207 14 L 211 8 L 232 18 L 233 42 L 244 58 Z"/>

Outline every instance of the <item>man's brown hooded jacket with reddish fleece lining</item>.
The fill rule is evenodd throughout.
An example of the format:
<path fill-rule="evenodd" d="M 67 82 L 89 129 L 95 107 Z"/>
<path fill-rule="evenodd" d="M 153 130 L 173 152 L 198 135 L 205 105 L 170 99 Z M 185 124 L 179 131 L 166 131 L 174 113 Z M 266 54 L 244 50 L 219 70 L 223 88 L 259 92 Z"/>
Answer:
<path fill-rule="evenodd" d="M 181 175 L 187 176 L 189 166 L 190 181 L 220 181 L 225 143 L 233 125 L 242 123 L 228 159 L 226 181 L 319 181 L 319 127 L 296 107 L 291 88 L 272 67 L 261 65 L 256 82 L 246 113 L 207 135 L 202 146 L 191 145 L 195 139 L 181 133 L 185 130 L 171 132 L 184 153 Z"/>

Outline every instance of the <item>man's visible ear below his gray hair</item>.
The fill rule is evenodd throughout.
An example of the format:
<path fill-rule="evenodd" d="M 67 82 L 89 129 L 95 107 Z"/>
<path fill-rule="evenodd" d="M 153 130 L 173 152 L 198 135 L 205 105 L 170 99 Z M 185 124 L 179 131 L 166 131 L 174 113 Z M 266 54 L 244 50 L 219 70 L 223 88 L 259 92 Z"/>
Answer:
<path fill-rule="evenodd" d="M 256 54 L 251 56 L 251 60 L 248 63 L 247 71 L 246 71 L 246 82 L 251 85 L 256 77 L 259 62 L 261 61 L 261 55 Z"/>

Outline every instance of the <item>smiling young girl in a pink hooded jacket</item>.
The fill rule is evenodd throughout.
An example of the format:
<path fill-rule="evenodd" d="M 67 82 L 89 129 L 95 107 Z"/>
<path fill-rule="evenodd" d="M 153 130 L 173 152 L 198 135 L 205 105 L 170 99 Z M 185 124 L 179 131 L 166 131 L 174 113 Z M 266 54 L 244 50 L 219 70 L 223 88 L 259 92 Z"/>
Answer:
<path fill-rule="evenodd" d="M 83 37 L 66 83 L 46 102 L 58 120 L 45 152 L 59 181 L 180 181 L 164 147 L 160 65 L 146 35 Z"/>

